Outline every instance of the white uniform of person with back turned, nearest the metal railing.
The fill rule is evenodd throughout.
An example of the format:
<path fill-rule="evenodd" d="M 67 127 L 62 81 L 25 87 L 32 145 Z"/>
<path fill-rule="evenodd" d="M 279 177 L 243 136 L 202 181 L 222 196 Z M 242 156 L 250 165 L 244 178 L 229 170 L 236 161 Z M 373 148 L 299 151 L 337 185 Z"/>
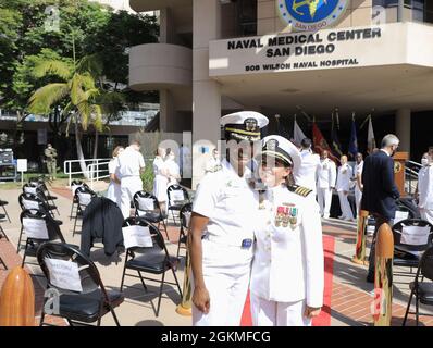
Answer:
<path fill-rule="evenodd" d="M 131 201 L 136 192 L 143 190 L 140 169 L 145 167 L 143 154 L 128 146 L 117 157 L 119 176 L 121 178 L 122 214 L 127 219 L 131 215 Z"/>

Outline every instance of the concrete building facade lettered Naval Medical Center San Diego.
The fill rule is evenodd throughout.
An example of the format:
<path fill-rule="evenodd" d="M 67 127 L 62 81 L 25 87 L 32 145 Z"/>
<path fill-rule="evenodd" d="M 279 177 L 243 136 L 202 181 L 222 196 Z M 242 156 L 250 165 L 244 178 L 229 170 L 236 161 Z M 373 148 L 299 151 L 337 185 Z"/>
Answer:
<path fill-rule="evenodd" d="M 129 85 L 159 89 L 162 132 L 216 144 L 219 119 L 255 110 L 314 119 L 343 138 L 369 114 L 415 160 L 429 146 L 433 3 L 426 0 L 129 0 L 159 11 L 160 42 L 133 47 Z M 301 121 L 304 122 L 304 121 Z M 309 123 L 305 121 L 305 127 Z M 344 125 L 347 124 L 347 125 Z M 308 134 L 307 134 L 308 135 Z M 202 175 L 193 149 L 193 183 Z"/>

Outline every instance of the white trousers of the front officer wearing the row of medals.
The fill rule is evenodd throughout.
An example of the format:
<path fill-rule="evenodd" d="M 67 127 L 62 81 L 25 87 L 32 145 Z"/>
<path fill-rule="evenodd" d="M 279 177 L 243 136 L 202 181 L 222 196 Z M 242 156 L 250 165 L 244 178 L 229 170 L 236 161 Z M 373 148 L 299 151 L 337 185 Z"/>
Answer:
<path fill-rule="evenodd" d="M 250 296 L 253 326 L 311 326 L 311 319 L 304 316 L 305 300 L 275 302 Z"/>

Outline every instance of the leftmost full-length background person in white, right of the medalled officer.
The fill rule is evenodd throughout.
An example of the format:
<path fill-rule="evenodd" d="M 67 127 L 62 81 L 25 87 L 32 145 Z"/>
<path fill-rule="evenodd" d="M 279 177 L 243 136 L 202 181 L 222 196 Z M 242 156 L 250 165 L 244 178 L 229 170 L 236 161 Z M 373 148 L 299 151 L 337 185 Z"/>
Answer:
<path fill-rule="evenodd" d="M 337 173 L 335 163 L 329 159 L 327 150 L 323 150 L 318 171 L 318 201 L 320 215 L 324 219 L 330 217 L 332 190 L 335 188 L 336 177 Z"/>

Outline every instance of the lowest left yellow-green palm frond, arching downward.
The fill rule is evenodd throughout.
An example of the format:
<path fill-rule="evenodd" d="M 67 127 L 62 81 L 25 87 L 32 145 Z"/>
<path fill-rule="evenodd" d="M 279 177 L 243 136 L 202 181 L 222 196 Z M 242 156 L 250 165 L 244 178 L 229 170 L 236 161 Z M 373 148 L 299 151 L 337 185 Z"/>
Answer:
<path fill-rule="evenodd" d="M 51 107 L 62 100 L 70 92 L 65 83 L 49 84 L 37 89 L 28 99 L 28 112 L 46 114 Z"/>

